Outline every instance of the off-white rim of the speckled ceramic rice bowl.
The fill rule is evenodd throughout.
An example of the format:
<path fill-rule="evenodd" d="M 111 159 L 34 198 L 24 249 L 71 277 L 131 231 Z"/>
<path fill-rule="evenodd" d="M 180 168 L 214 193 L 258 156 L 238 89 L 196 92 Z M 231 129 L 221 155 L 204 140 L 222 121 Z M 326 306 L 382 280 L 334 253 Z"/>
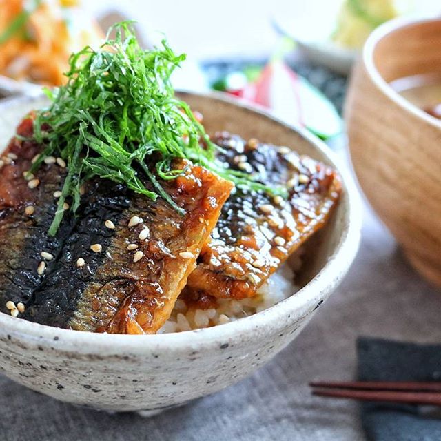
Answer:
<path fill-rule="evenodd" d="M 318 150 L 333 167 L 338 170 L 342 186 L 345 191 L 345 226 L 338 243 L 334 248 L 327 263 L 322 269 L 295 294 L 276 305 L 260 311 L 252 316 L 240 318 L 228 322 L 224 325 L 214 327 L 194 329 L 192 331 L 183 331 L 169 334 L 147 334 L 147 335 L 127 335 L 127 334 L 98 334 L 88 331 L 74 331 L 72 329 L 61 329 L 48 325 L 40 325 L 34 322 L 28 322 L 0 313 L 0 329 L 4 334 L 13 334 L 14 338 L 27 338 L 29 343 L 34 345 L 57 346 L 64 352 L 75 353 L 151 353 L 152 351 L 185 351 L 195 347 L 218 346 L 225 342 L 231 342 L 235 337 L 240 337 L 243 333 L 258 333 L 268 323 L 276 323 L 278 320 L 286 318 L 295 311 L 303 311 L 307 316 L 307 311 L 311 307 L 316 307 L 316 300 L 322 293 L 330 292 L 341 282 L 351 263 L 358 252 L 360 243 L 361 225 L 362 225 L 362 205 L 358 194 L 358 189 L 349 172 L 349 167 L 342 164 L 340 158 L 332 152 L 325 143 L 313 134 L 299 127 L 289 125 L 269 112 L 261 110 L 247 104 L 244 100 L 230 98 L 219 92 L 209 94 L 195 93 L 185 90 L 179 92 L 193 94 L 201 98 L 223 101 L 229 105 L 241 107 L 249 112 L 259 114 L 267 119 L 285 126 L 291 131 L 296 132 L 302 139 L 307 141 L 315 150 Z M 19 96 L 0 104 L 1 107 L 8 107 L 23 100 L 35 99 L 32 96 Z M 9 338 L 9 337 L 8 337 Z M 59 340 L 59 341 L 58 341 Z"/>

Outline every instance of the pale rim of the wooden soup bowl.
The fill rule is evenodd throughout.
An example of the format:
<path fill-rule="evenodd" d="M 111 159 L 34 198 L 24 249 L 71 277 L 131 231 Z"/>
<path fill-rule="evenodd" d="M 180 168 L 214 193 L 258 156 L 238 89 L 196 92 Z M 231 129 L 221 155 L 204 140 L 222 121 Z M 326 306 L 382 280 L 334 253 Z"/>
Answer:
<path fill-rule="evenodd" d="M 409 112 L 418 119 L 422 119 L 424 122 L 429 123 L 437 129 L 441 128 L 441 121 L 435 117 L 429 115 L 424 110 L 420 109 L 417 105 L 411 103 L 404 96 L 401 96 L 396 90 L 394 90 L 387 81 L 384 80 L 376 63 L 373 61 L 373 53 L 376 50 L 378 43 L 393 32 L 403 28 L 410 28 L 416 25 L 423 25 L 424 23 L 440 22 L 441 17 L 397 17 L 378 26 L 367 38 L 365 45 L 362 49 L 362 62 L 365 65 L 367 74 L 370 76 L 373 83 L 377 88 L 387 96 L 391 101 L 402 107 L 403 110 Z"/>

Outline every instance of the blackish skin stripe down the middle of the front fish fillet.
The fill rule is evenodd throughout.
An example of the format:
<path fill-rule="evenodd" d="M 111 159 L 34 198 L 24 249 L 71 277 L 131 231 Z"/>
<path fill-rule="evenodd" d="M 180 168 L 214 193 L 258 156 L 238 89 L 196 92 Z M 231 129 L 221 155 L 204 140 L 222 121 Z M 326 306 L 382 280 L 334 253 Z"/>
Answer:
<path fill-rule="evenodd" d="M 103 185 L 95 182 L 90 187 L 85 196 L 88 203 L 81 207 L 74 229 L 65 238 L 59 258 L 34 291 L 32 301 L 22 316 L 25 320 L 72 328 L 70 321 L 77 312 L 85 289 L 93 283 L 96 271 L 105 263 L 106 252 L 114 236 L 113 230 L 105 227 L 105 220 L 112 219 L 117 224 L 131 201 L 123 185 L 105 181 Z M 103 252 L 92 252 L 90 246 L 96 243 L 103 247 Z M 83 267 L 76 265 L 79 258 L 85 260 Z M 105 305 L 100 306 L 104 308 Z M 83 328 L 94 331 L 92 325 L 83 325 Z"/>

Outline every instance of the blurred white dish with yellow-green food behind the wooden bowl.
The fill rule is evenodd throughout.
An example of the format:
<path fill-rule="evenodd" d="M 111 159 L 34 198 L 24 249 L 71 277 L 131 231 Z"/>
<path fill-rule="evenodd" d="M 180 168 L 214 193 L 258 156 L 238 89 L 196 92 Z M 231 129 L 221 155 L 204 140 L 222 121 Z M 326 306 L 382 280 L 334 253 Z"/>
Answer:
<path fill-rule="evenodd" d="M 274 27 L 298 44 L 313 63 L 349 74 L 369 34 L 402 14 L 439 12 L 433 0 L 311 0 L 274 13 Z"/>

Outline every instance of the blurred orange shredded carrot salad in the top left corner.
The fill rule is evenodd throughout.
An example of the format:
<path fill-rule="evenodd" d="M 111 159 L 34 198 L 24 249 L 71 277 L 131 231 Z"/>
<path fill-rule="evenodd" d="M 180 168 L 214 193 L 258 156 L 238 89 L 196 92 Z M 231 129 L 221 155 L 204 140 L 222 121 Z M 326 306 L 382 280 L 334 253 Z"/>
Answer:
<path fill-rule="evenodd" d="M 78 0 L 0 0 L 0 75 L 61 85 L 68 59 L 103 34 Z M 81 20 L 81 22 L 79 22 Z"/>

